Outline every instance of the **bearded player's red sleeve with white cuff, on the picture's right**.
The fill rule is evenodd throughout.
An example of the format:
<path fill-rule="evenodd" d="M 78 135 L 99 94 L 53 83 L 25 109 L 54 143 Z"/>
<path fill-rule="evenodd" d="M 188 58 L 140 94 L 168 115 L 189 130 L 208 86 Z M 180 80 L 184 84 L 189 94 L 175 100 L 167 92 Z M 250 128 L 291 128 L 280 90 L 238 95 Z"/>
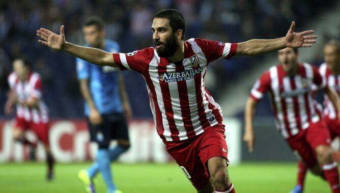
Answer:
<path fill-rule="evenodd" d="M 218 58 L 232 58 L 238 46 L 236 43 L 222 43 L 204 39 L 195 39 L 195 41 L 201 47 L 208 63 Z"/>

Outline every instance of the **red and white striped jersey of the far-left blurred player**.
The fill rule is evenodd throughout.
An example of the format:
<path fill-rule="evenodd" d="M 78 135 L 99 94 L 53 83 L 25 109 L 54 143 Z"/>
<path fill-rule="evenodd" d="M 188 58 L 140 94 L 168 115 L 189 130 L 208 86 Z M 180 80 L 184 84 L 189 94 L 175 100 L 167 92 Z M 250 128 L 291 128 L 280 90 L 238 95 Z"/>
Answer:
<path fill-rule="evenodd" d="M 26 121 L 34 123 L 48 122 L 48 109 L 42 100 L 42 85 L 38 73 L 30 73 L 26 81 L 20 81 L 16 73 L 11 73 L 8 77 L 10 88 L 16 92 L 19 102 L 36 98 L 39 100 L 37 108 L 29 108 L 21 104 L 16 105 L 17 116 L 24 118 Z"/>

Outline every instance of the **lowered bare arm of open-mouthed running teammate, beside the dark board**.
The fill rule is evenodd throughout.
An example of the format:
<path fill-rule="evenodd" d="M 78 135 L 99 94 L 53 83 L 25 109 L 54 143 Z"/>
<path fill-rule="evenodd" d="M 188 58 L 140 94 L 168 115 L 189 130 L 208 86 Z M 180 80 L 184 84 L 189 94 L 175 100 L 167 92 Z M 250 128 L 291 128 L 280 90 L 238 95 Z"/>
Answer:
<path fill-rule="evenodd" d="M 253 117 L 255 114 L 255 107 L 257 104 L 258 102 L 256 100 L 249 97 L 245 105 L 245 112 L 244 112 L 245 127 L 244 127 L 243 141 L 247 143 L 249 152 L 252 152 L 254 141 L 255 141 L 252 122 L 253 122 Z"/>

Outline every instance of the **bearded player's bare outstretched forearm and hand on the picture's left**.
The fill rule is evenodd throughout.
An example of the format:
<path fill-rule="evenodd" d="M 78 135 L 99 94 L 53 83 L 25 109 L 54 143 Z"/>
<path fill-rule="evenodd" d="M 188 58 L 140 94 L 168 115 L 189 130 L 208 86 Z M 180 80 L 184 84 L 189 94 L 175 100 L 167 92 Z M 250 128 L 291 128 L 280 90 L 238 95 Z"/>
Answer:
<path fill-rule="evenodd" d="M 42 39 L 38 40 L 39 43 L 54 50 L 64 51 L 73 56 L 94 63 L 95 65 L 118 68 L 111 53 L 96 48 L 88 48 L 66 42 L 64 25 L 60 27 L 59 35 L 54 34 L 48 29 L 40 28 L 37 30 L 37 36 Z"/>

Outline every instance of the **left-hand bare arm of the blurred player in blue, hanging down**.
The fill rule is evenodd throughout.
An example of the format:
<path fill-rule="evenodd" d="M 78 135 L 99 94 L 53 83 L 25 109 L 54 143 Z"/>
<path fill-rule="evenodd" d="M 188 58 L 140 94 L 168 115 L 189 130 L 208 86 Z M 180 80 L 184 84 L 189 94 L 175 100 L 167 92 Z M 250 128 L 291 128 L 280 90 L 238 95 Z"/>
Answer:
<path fill-rule="evenodd" d="M 102 117 L 92 99 L 92 95 L 89 89 L 89 80 L 81 79 L 79 80 L 79 84 L 80 84 L 81 95 L 83 99 L 85 100 L 85 102 L 88 104 L 89 109 L 90 109 L 90 115 L 89 115 L 90 122 L 92 124 L 100 124 L 102 122 Z"/>

